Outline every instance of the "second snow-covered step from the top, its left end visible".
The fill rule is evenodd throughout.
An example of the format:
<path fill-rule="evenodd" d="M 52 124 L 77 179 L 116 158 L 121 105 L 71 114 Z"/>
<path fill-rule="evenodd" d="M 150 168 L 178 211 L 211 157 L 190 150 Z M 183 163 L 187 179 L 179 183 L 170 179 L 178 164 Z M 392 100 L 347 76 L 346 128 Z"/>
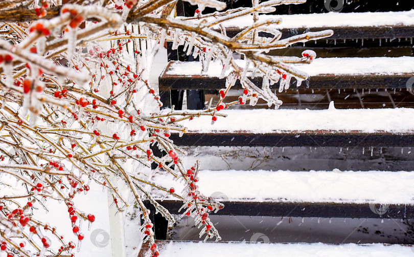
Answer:
<path fill-rule="evenodd" d="M 414 34 L 413 34 L 414 36 Z M 245 67 L 244 60 L 236 60 Z M 222 89 L 225 79 L 219 79 L 223 66 L 211 62 L 209 70 L 201 72 L 201 62 L 171 61 L 159 78 L 160 91 L 171 89 Z M 323 88 L 406 88 L 407 80 L 414 76 L 414 57 L 344 57 L 316 58 L 310 65 L 296 66 L 310 78 L 301 87 Z M 231 71 L 229 69 L 227 74 Z M 261 78 L 253 80 L 261 85 Z M 279 84 L 273 85 L 279 88 Z M 235 88 L 241 88 L 238 81 Z M 291 82 L 291 88 L 296 83 Z"/>

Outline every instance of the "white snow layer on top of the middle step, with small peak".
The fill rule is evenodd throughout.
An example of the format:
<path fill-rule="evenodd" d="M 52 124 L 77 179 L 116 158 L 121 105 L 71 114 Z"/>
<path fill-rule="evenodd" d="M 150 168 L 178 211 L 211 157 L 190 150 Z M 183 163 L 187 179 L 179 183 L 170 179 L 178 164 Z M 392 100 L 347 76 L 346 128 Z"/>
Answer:
<path fill-rule="evenodd" d="M 331 102 L 332 103 L 332 102 Z M 411 134 L 414 109 L 221 110 L 227 117 L 185 120 L 186 133 L 216 134 Z"/>

